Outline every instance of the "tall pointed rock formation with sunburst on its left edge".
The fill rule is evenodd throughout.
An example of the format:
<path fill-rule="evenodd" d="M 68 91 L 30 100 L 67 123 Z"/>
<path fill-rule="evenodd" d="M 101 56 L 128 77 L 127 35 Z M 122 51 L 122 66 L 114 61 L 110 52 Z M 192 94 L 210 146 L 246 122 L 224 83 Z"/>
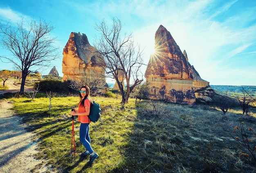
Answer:
<path fill-rule="evenodd" d="M 209 86 L 162 25 L 155 33 L 155 53 L 150 56 L 145 78 L 151 99 L 184 104 L 195 103 L 194 91 Z"/>

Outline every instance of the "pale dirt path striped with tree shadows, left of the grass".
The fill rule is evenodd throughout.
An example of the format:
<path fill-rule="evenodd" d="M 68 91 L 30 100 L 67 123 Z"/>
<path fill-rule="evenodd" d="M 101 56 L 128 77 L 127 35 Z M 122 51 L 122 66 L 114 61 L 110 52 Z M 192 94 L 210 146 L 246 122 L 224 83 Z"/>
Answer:
<path fill-rule="evenodd" d="M 11 81 L 7 84 L 10 90 L 6 92 L 17 92 Z M 34 158 L 37 153 L 37 144 L 32 140 L 35 134 L 25 130 L 25 124 L 21 124 L 12 106 L 9 100 L 0 100 L 0 173 L 52 172 L 45 166 L 45 160 Z"/>

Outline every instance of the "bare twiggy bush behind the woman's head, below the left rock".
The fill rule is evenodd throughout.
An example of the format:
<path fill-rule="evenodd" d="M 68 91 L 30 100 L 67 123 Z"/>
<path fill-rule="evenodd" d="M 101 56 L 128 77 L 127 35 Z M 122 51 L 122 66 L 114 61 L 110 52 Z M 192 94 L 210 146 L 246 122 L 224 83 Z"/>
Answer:
<path fill-rule="evenodd" d="M 106 89 L 105 76 L 101 74 L 96 74 L 90 77 L 83 75 L 77 79 L 69 79 L 69 81 L 69 87 L 76 91 L 79 91 L 80 88 L 85 85 L 88 85 L 92 94 Z"/>

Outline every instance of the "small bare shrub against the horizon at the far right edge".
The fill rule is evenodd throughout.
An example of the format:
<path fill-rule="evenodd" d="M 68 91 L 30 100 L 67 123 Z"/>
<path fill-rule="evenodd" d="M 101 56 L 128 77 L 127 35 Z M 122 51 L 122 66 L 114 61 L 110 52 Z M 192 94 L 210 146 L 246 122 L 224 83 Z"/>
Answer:
<path fill-rule="evenodd" d="M 242 107 L 243 114 L 247 115 L 247 113 L 251 107 L 251 104 L 254 105 L 256 98 L 252 97 L 250 95 L 250 93 L 247 92 L 243 87 L 242 87 L 242 89 L 243 89 L 242 90 L 243 96 L 234 95 L 233 97 L 239 102 L 240 106 Z"/>

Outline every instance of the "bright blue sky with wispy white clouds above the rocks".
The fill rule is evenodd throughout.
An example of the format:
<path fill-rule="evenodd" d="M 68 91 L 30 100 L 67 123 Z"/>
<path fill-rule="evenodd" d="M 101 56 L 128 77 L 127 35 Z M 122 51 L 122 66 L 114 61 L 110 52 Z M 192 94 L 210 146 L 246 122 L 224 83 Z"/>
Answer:
<path fill-rule="evenodd" d="M 71 32 L 85 33 L 91 45 L 95 23 L 113 17 L 144 48 L 148 64 L 159 25 L 170 31 L 191 65 L 210 85 L 256 86 L 256 0 L 0 0 L 0 20 L 51 22 L 60 58 L 52 62 L 62 76 L 62 52 Z M 0 54 L 4 54 L 0 49 Z M 41 71 L 47 75 L 52 68 Z M 12 69 L 0 62 L 0 69 Z M 142 69 L 145 71 L 146 68 Z"/>

